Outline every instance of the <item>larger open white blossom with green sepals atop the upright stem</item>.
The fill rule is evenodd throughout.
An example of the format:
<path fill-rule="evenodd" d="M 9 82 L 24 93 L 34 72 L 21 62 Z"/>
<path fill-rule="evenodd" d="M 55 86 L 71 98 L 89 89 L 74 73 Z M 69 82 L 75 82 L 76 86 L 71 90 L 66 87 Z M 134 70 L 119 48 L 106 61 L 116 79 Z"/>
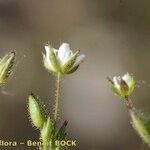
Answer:
<path fill-rule="evenodd" d="M 45 45 L 46 54 L 43 54 L 44 67 L 49 72 L 68 74 L 77 70 L 85 55 L 79 55 L 79 50 L 72 52 L 68 43 L 63 43 L 59 49 Z"/>

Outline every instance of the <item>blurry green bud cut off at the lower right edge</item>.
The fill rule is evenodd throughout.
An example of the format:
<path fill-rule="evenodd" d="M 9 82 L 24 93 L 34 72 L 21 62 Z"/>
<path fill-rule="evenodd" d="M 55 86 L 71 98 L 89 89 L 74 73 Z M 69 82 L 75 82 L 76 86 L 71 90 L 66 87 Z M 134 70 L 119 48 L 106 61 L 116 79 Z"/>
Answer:
<path fill-rule="evenodd" d="M 150 116 L 131 110 L 132 126 L 141 139 L 150 147 Z"/>

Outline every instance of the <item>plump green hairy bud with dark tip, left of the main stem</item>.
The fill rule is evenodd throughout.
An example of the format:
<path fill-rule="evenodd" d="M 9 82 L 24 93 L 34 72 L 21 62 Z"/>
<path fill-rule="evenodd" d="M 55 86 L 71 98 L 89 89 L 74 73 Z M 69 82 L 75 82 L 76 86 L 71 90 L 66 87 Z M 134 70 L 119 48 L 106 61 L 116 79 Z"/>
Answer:
<path fill-rule="evenodd" d="M 46 112 L 37 96 L 33 93 L 29 95 L 29 115 L 35 127 L 42 129 L 46 121 Z"/>

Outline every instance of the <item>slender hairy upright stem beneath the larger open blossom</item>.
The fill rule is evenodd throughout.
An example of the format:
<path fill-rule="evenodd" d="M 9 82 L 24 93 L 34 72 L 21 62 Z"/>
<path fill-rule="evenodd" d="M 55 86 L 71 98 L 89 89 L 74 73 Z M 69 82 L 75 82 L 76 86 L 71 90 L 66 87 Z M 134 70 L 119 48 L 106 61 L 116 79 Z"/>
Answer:
<path fill-rule="evenodd" d="M 60 74 L 57 74 L 56 79 L 56 95 L 55 95 L 55 110 L 54 110 L 54 120 L 55 123 L 58 117 L 58 109 L 59 109 L 59 98 L 60 98 Z"/>

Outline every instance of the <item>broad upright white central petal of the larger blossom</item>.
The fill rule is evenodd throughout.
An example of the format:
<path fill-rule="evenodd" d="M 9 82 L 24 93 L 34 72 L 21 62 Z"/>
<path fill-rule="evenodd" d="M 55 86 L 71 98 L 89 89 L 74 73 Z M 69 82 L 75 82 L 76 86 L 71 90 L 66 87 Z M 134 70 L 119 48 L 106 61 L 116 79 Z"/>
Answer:
<path fill-rule="evenodd" d="M 66 61 L 70 55 L 71 55 L 71 50 L 69 44 L 63 43 L 58 50 L 58 57 L 60 61 L 63 63 L 63 61 Z"/>

